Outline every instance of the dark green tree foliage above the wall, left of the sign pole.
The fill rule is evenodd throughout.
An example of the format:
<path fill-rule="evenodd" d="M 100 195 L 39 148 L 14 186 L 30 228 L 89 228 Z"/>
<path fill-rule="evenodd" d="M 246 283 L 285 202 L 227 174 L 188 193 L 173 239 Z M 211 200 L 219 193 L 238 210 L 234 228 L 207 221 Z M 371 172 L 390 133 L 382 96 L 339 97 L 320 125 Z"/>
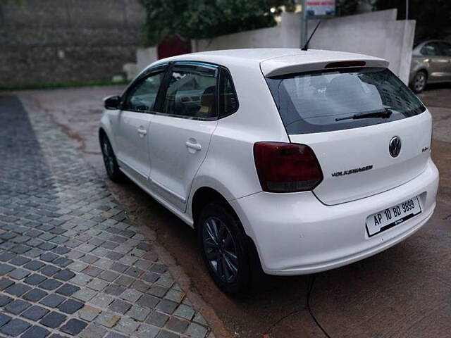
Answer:
<path fill-rule="evenodd" d="M 276 25 L 270 0 L 140 0 L 146 9 L 145 43 L 180 35 L 205 39 Z"/>

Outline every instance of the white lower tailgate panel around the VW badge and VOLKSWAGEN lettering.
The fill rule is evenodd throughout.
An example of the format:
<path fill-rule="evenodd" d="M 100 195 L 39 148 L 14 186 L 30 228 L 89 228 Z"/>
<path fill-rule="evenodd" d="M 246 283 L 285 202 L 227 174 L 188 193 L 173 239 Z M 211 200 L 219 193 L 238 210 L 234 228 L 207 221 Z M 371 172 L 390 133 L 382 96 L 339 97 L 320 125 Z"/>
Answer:
<path fill-rule="evenodd" d="M 323 181 L 314 194 L 324 204 L 340 204 L 385 192 L 420 175 L 430 156 L 431 113 L 334 132 L 290 135 L 291 142 L 308 144 L 323 170 Z M 390 156 L 393 137 L 402 142 L 400 155 Z M 422 151 L 423 149 L 427 151 Z M 333 177 L 337 171 L 373 168 L 362 173 Z"/>

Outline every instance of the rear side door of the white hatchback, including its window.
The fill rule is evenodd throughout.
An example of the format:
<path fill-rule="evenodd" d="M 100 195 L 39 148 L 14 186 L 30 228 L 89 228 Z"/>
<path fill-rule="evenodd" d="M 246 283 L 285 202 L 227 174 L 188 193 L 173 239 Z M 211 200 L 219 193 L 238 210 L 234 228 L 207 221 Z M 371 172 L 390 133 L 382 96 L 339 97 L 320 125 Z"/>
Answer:
<path fill-rule="evenodd" d="M 165 80 L 159 112 L 152 115 L 152 190 L 180 211 L 185 211 L 192 180 L 218 123 L 217 79 L 216 65 L 174 63 Z"/>

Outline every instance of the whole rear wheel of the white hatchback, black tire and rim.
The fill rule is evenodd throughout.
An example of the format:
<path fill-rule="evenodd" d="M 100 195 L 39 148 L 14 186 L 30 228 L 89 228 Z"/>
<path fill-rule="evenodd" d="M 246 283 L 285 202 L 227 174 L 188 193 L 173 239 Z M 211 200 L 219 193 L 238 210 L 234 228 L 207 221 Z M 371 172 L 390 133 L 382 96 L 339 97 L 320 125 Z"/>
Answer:
<path fill-rule="evenodd" d="M 197 220 L 197 239 L 209 274 L 228 294 L 243 294 L 251 285 L 246 234 L 240 220 L 221 201 L 206 205 Z"/>

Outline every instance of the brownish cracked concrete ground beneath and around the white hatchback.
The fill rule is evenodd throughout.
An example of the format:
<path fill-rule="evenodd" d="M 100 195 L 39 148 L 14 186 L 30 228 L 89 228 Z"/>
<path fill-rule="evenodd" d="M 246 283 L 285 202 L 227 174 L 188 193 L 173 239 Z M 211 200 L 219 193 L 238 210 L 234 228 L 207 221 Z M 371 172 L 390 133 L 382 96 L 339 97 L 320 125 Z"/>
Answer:
<path fill-rule="evenodd" d="M 451 330 L 451 89 L 433 87 L 421 99 L 433 114 L 433 159 L 440 170 L 438 204 L 428 224 L 397 246 L 364 261 L 311 277 L 268 277 L 244 299 L 220 292 L 207 275 L 192 230 L 131 182 L 106 179 L 97 144 L 101 98 L 121 87 L 20 92 L 68 134 L 137 224 L 156 233 L 173 265 L 235 337 L 449 337 Z M 168 257 L 171 259 L 171 257 Z M 211 321 L 210 321 L 211 320 Z M 215 322 L 216 323 L 216 322 Z M 215 325 L 213 323 L 213 326 Z M 219 325 L 220 323 L 218 323 Z M 216 335 L 226 335 L 221 332 Z"/>

